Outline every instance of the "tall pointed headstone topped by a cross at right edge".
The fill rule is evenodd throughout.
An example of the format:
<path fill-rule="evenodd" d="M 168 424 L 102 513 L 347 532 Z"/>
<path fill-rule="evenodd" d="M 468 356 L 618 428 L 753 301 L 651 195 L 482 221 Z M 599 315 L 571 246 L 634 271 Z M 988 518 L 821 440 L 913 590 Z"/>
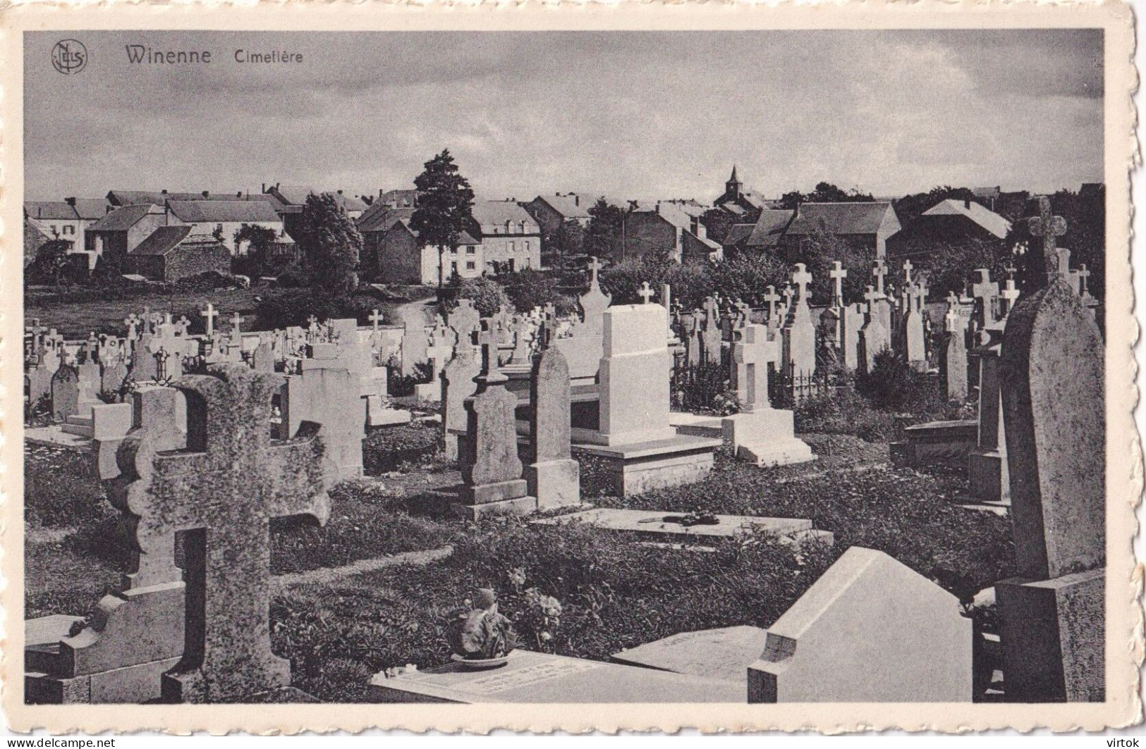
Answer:
<path fill-rule="evenodd" d="M 1069 283 L 1066 230 L 1039 199 L 1047 285 L 1007 317 L 1002 355 L 1019 576 L 996 584 L 1006 697 L 1105 699 L 1105 348 Z"/>

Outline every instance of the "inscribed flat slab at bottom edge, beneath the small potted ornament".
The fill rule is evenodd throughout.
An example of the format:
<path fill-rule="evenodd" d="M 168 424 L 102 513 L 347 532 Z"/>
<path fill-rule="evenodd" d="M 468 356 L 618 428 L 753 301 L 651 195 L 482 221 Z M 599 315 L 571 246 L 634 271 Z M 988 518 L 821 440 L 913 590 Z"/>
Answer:
<path fill-rule="evenodd" d="M 725 681 L 564 655 L 515 651 L 488 670 L 458 663 L 370 680 L 375 702 L 732 702 L 747 700 L 746 681 Z"/>

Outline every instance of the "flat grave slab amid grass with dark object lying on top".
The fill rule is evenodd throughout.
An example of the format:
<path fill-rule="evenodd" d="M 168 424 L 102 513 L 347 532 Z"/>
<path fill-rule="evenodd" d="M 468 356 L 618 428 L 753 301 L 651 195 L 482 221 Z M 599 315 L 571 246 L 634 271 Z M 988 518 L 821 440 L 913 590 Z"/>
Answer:
<path fill-rule="evenodd" d="M 661 539 L 672 538 L 676 541 L 732 538 L 738 534 L 759 529 L 793 541 L 818 538 L 832 543 L 831 533 L 814 530 L 811 521 L 802 518 L 759 518 L 754 515 L 716 515 L 715 518 L 715 525 L 688 526 L 681 522 L 684 520 L 684 513 L 680 512 L 597 507 L 596 510 L 544 518 L 534 520 L 533 522 L 543 526 L 583 522 L 606 530 L 627 530 L 650 537 Z"/>

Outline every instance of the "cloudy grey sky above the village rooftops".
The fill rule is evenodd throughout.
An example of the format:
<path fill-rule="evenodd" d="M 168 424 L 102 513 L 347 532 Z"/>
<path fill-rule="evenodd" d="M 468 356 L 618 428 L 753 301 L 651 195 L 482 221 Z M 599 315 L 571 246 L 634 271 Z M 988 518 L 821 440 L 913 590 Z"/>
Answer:
<path fill-rule="evenodd" d="M 1099 30 L 25 37 L 26 196 L 407 188 L 449 148 L 479 195 L 712 200 L 826 180 L 1050 191 L 1102 178 Z M 131 65 L 125 45 L 212 52 Z M 301 53 L 240 64 L 236 49 Z"/>

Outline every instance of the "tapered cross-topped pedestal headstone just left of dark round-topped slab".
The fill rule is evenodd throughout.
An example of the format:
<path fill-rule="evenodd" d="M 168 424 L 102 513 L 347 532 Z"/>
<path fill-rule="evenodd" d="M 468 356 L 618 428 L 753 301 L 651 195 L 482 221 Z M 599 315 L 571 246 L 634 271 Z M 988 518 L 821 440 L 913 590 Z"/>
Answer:
<path fill-rule="evenodd" d="M 492 328 L 481 331 L 481 374 L 477 393 L 465 401 L 468 427 L 461 446 L 464 486 L 457 510 L 472 520 L 537 508 L 521 478 L 513 415 L 517 395 L 505 389 L 507 377 L 497 370 L 497 334 Z"/>

